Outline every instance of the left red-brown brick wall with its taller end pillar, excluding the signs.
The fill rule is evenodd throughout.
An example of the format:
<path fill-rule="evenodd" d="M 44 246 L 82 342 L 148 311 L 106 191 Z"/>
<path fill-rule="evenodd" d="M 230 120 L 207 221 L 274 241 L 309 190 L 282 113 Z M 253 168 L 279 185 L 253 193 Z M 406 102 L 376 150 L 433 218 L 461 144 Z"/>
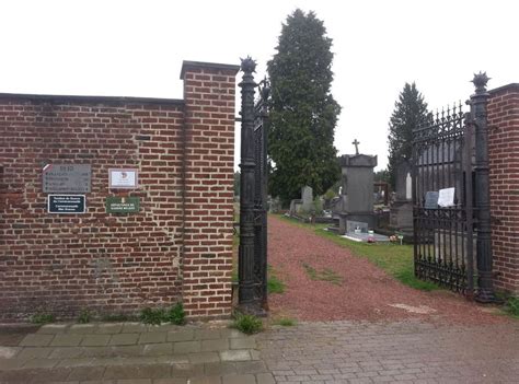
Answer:
<path fill-rule="evenodd" d="M 235 66 L 185 61 L 184 100 L 0 94 L 0 319 L 230 313 Z M 45 164 L 91 164 L 86 213 L 47 213 Z M 139 188 L 108 189 L 135 167 Z M 107 196 L 140 197 L 106 213 Z"/>

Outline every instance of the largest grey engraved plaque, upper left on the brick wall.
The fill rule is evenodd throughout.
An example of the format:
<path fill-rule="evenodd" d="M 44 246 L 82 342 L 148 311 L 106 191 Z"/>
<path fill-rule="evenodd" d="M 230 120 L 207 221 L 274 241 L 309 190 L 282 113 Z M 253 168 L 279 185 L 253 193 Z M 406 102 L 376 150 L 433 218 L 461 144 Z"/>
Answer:
<path fill-rule="evenodd" d="M 46 194 L 90 193 L 90 164 L 47 164 L 43 168 L 43 190 Z"/>

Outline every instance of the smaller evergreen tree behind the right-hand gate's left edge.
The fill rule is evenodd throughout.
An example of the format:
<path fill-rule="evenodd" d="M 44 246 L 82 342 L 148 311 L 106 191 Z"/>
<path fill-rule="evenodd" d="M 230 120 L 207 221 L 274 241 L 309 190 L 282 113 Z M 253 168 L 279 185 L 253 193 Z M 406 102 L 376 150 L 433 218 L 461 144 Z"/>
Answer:
<path fill-rule="evenodd" d="M 427 103 L 416 89 L 416 84 L 405 83 L 389 124 L 389 164 L 388 173 L 391 186 L 395 185 L 396 165 L 404 159 L 411 160 L 413 129 L 428 116 Z"/>

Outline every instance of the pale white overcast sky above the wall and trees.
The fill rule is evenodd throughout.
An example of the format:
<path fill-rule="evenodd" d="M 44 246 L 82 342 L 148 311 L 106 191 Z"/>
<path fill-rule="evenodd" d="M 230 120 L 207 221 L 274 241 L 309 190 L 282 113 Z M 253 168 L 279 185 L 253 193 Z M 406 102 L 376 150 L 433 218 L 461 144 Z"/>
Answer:
<path fill-rule="evenodd" d="M 297 8 L 315 11 L 333 38 L 338 152 L 358 139 L 379 168 L 405 82 L 434 108 L 466 100 L 480 70 L 491 89 L 519 82 L 517 0 L 3 0 L 0 92 L 182 98 L 182 60 L 246 55 L 260 79 Z"/>

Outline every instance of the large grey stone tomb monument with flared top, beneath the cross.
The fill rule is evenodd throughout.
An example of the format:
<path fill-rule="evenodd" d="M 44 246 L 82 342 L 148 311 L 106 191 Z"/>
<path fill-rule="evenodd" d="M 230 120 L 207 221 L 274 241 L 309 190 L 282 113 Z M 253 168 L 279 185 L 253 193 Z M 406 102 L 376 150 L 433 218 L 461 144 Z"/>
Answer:
<path fill-rule="evenodd" d="M 345 154 L 339 159 L 342 194 L 335 214 L 339 219 L 339 233 L 348 229 L 373 229 L 373 168 L 377 156 Z"/>

